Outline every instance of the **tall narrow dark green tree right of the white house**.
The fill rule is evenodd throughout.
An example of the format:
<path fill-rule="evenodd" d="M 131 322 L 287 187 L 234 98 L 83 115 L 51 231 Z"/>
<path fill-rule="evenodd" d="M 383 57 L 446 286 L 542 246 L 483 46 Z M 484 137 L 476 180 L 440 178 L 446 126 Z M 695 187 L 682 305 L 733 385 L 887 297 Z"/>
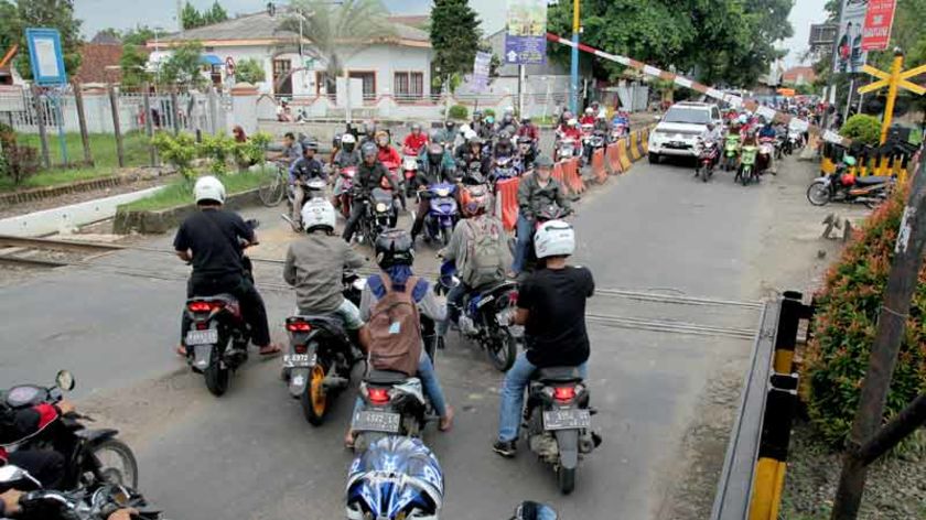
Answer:
<path fill-rule="evenodd" d="M 467 0 L 434 0 L 430 31 L 433 66 L 441 83 L 473 69 L 482 33 Z"/>

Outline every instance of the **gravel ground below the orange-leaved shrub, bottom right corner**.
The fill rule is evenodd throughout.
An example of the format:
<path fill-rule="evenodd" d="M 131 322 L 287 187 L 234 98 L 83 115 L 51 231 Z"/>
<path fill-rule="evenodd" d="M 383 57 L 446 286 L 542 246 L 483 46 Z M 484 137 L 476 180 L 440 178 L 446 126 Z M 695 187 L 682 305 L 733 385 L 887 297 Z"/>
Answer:
<path fill-rule="evenodd" d="M 842 467 L 840 454 L 814 440 L 809 423 L 792 431 L 779 519 L 829 520 Z M 889 456 L 871 466 L 860 520 L 926 519 L 926 457 Z"/>

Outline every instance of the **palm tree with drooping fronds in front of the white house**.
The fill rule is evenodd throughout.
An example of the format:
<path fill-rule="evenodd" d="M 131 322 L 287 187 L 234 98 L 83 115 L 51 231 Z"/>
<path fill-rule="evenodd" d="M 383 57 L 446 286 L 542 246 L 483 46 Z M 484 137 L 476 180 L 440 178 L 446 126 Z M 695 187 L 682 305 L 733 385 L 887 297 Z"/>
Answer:
<path fill-rule="evenodd" d="M 303 33 L 327 64 L 329 93 L 334 91 L 335 78 L 344 74 L 344 64 L 352 56 L 396 35 L 389 11 L 380 0 L 293 0 L 280 29 L 299 32 L 300 18 Z"/>

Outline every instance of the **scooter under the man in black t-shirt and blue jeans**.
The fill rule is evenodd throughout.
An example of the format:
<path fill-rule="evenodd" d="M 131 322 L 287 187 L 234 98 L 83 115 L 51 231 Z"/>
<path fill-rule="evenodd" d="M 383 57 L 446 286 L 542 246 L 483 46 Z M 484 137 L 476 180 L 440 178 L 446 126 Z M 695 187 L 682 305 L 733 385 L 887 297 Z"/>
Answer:
<path fill-rule="evenodd" d="M 575 367 L 537 370 L 527 392 L 525 424 L 530 451 L 557 472 L 560 491 L 575 488 L 579 458 L 601 438 L 591 432 L 589 389 Z"/>

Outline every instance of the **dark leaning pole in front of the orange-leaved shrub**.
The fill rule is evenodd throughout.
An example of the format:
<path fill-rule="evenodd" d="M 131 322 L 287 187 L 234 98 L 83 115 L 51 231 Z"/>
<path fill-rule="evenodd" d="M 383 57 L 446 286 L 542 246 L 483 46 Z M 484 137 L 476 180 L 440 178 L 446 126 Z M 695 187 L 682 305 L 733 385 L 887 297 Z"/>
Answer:
<path fill-rule="evenodd" d="M 900 67 L 895 62 L 894 72 L 897 71 Z M 885 116 L 887 113 L 890 111 Z M 846 446 L 846 457 L 839 477 L 839 488 L 836 491 L 831 520 L 854 520 L 858 517 L 871 453 L 879 451 L 883 453 L 883 449 L 877 446 L 872 447 L 869 443 L 875 438 L 881 427 L 884 403 L 891 387 L 901 342 L 903 342 L 911 300 L 916 291 L 919 269 L 923 266 L 923 253 L 926 251 L 926 173 L 924 172 L 926 172 L 926 162 L 920 164 L 919 171 L 914 174 L 909 199 L 901 220 L 901 229 L 894 247 L 894 260 L 891 263 L 887 288 L 884 291 L 884 303 L 877 316 L 877 332 L 871 349 L 859 408 Z M 914 409 L 914 412 L 902 414 L 906 416 L 907 423 L 917 416 L 922 419 L 922 401 L 920 397 L 914 403 L 914 407 L 918 407 Z M 892 423 L 891 426 L 886 437 L 894 438 L 896 443 L 900 440 L 894 433 L 896 423 Z M 900 430 L 903 427 L 900 426 Z M 879 434 L 874 444 L 883 446 L 885 443 L 877 442 L 883 438 L 885 435 Z"/>

